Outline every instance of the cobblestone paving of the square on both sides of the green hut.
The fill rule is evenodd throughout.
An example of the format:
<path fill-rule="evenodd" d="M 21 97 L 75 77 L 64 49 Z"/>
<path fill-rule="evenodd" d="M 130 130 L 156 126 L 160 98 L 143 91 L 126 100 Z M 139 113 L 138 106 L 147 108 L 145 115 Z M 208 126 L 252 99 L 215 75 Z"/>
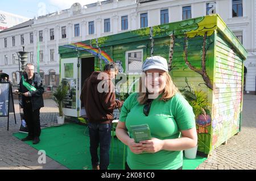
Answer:
<path fill-rule="evenodd" d="M 228 140 L 228 144 L 213 151 L 197 170 L 217 169 L 256 169 L 256 96 L 244 95 L 242 112 L 242 132 Z M 40 110 L 42 127 L 56 125 L 57 107 L 51 99 L 44 100 L 45 107 Z M 7 131 L 7 118 L 0 118 L 0 170 L 1 169 L 67 169 L 51 158 L 46 164 L 38 163 L 38 151 L 13 136 L 19 131 L 20 117 L 18 102 L 15 100 L 17 124 L 14 115 L 10 116 Z"/>

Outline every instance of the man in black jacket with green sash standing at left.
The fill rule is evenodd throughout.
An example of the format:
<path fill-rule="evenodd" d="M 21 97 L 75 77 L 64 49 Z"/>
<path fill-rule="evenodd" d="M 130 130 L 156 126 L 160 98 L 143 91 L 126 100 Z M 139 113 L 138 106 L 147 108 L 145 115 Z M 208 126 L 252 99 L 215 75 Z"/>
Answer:
<path fill-rule="evenodd" d="M 34 65 L 26 65 L 26 73 L 20 79 L 19 90 L 22 94 L 22 106 L 24 118 L 28 127 L 28 136 L 22 141 L 33 140 L 33 144 L 38 144 L 41 134 L 40 108 L 44 107 L 43 92 L 44 87 L 40 74 L 34 73 Z"/>

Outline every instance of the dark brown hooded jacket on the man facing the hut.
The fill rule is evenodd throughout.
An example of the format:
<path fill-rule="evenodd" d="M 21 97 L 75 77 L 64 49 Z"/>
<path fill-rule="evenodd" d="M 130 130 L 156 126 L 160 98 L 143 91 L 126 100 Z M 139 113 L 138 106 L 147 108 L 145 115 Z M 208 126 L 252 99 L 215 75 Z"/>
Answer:
<path fill-rule="evenodd" d="M 90 123 L 111 123 L 113 111 L 121 108 L 123 102 L 115 100 L 114 83 L 110 75 L 94 71 L 85 79 L 80 96 Z"/>

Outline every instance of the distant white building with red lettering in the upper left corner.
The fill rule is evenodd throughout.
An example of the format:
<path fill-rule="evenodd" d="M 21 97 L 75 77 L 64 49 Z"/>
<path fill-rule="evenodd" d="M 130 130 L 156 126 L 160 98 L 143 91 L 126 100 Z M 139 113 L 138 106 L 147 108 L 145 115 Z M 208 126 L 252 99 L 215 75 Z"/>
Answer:
<path fill-rule="evenodd" d="M 26 22 L 29 20 L 23 16 L 11 14 L 9 12 L 0 10 L 0 31 L 6 30 L 7 28 L 13 27 L 17 24 Z"/>

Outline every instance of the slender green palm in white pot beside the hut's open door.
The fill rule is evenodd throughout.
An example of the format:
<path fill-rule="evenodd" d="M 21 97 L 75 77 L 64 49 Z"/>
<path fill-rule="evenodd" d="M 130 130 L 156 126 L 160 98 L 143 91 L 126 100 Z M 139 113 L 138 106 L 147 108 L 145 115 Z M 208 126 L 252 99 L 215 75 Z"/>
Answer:
<path fill-rule="evenodd" d="M 63 114 L 63 101 L 65 96 L 67 96 L 68 86 L 64 85 L 63 82 L 57 86 L 56 90 L 53 91 L 53 100 L 56 102 L 57 107 L 59 108 L 59 116 L 57 116 L 57 123 L 64 124 L 65 116 Z"/>

